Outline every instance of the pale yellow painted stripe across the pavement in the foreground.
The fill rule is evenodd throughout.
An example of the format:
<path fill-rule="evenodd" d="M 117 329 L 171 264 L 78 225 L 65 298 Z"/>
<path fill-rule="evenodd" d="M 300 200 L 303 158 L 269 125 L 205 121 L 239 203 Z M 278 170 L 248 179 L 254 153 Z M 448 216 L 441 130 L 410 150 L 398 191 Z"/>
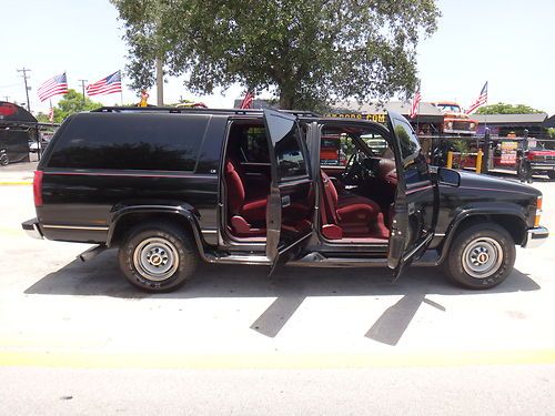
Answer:
<path fill-rule="evenodd" d="M 64 368 L 332 369 L 555 364 L 555 349 L 400 354 L 101 354 L 0 352 L 0 366 Z"/>

